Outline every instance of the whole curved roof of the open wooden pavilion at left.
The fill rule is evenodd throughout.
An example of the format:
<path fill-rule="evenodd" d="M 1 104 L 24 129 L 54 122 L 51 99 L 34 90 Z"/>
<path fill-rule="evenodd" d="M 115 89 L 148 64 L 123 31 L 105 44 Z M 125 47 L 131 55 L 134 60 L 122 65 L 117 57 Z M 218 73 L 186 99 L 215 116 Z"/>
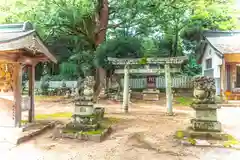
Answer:
<path fill-rule="evenodd" d="M 30 22 L 0 25 L 0 53 L 21 51 L 24 56 L 57 62 Z"/>

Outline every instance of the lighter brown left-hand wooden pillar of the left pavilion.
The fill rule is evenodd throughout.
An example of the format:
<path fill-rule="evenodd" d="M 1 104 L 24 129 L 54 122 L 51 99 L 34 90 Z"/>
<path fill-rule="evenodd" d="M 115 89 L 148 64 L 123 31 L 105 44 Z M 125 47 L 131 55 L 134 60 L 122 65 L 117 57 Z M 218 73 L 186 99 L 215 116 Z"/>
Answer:
<path fill-rule="evenodd" d="M 14 67 L 14 99 L 15 99 L 15 127 L 21 127 L 22 120 L 22 66 L 19 63 Z"/>

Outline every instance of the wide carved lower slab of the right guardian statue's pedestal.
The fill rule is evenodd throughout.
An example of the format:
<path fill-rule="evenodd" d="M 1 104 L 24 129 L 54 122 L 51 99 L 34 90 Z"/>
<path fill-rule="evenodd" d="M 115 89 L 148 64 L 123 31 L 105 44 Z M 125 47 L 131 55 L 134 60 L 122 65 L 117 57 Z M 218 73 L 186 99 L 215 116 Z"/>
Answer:
<path fill-rule="evenodd" d="M 221 123 L 218 121 L 207 121 L 207 120 L 199 120 L 192 119 L 191 120 L 193 130 L 197 131 L 221 131 Z"/>

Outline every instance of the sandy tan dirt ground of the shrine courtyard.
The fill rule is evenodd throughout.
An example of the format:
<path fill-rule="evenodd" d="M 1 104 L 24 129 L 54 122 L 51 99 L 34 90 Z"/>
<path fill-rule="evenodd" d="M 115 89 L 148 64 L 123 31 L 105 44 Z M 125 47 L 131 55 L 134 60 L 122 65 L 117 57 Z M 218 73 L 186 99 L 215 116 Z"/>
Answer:
<path fill-rule="evenodd" d="M 220 148 L 186 147 L 174 140 L 175 131 L 185 129 L 193 115 L 186 106 L 175 106 L 175 116 L 165 114 L 165 102 L 131 103 L 124 114 L 120 104 L 100 102 L 106 116 L 123 119 L 102 143 L 51 139 L 52 131 L 5 150 L 3 160 L 238 160 L 240 151 Z M 38 102 L 37 113 L 70 112 L 73 103 Z M 239 137 L 239 108 L 219 112 L 223 127 Z M 239 137 L 240 138 L 240 137 Z M 3 150 L 2 150 L 3 151 Z"/>

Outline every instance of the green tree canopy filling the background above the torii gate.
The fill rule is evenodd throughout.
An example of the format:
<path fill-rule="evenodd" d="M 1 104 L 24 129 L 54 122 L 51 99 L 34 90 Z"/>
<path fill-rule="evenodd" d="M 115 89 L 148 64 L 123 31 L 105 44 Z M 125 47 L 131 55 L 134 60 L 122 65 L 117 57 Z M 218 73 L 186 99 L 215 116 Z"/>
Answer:
<path fill-rule="evenodd" d="M 86 66 L 107 68 L 106 56 L 129 53 L 188 55 L 188 68 L 197 72 L 201 32 L 234 29 L 232 6 L 224 0 L 10 0 L 0 5 L 0 22 L 33 22 L 60 63 L 70 61 L 78 72 Z"/>

